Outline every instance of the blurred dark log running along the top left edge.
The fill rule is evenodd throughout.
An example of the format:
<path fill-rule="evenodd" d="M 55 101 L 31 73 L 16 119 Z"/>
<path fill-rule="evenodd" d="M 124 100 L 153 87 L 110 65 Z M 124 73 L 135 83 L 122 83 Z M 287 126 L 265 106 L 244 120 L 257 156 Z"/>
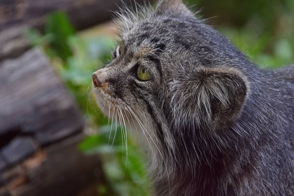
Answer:
<path fill-rule="evenodd" d="M 1 0 L 0 60 L 16 57 L 28 49 L 25 28 L 42 29 L 46 15 L 54 10 L 65 11 L 73 26 L 80 30 L 109 20 L 123 1 L 134 5 L 134 0 Z"/>

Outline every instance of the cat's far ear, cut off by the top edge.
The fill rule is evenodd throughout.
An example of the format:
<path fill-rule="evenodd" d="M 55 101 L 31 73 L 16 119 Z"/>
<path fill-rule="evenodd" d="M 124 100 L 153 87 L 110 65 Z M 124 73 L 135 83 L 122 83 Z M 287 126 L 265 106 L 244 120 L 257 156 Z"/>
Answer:
<path fill-rule="evenodd" d="M 180 12 L 181 14 L 191 15 L 193 13 L 186 7 L 182 0 L 161 0 L 156 6 L 156 13 L 163 14 L 167 11 Z"/>

